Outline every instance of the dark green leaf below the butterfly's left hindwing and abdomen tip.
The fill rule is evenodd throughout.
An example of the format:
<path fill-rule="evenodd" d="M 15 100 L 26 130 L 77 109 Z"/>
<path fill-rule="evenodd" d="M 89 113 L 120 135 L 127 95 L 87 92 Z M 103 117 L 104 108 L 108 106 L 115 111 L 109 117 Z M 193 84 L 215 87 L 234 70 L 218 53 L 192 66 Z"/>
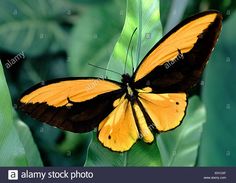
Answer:
<path fill-rule="evenodd" d="M 89 145 L 85 166 L 160 166 L 160 154 L 153 142 L 146 144 L 143 141 L 136 143 L 128 152 L 113 152 L 101 145 L 96 133 Z"/>

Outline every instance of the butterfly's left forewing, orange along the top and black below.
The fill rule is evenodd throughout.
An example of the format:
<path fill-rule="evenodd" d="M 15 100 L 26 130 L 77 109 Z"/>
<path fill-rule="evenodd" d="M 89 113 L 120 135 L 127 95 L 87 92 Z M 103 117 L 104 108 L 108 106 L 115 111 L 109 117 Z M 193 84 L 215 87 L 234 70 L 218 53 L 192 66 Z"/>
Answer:
<path fill-rule="evenodd" d="M 18 108 L 52 126 L 87 132 L 114 109 L 119 83 L 99 78 L 65 78 L 37 84 L 19 99 Z"/>

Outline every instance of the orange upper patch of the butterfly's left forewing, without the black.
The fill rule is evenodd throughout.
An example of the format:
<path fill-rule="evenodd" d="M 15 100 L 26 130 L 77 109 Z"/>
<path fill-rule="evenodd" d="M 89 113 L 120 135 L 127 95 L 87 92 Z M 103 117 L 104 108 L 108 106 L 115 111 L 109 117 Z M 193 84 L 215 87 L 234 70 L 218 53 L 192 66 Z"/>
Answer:
<path fill-rule="evenodd" d="M 20 99 L 21 103 L 46 103 L 49 106 L 61 107 L 73 102 L 83 102 L 100 94 L 120 89 L 120 86 L 105 80 L 80 79 L 52 83 L 42 86 Z"/>

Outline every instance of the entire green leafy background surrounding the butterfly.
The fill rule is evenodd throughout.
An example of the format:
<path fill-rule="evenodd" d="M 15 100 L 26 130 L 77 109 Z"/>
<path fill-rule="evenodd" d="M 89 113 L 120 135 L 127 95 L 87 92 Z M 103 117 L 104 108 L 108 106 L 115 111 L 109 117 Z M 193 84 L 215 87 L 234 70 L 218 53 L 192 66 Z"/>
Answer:
<path fill-rule="evenodd" d="M 152 21 L 148 19 L 156 17 L 154 14 L 158 12 L 151 8 L 142 12 L 135 5 L 141 1 L 129 1 L 133 9 L 128 9 L 130 15 L 127 17 L 125 0 L 1 0 L 0 59 L 8 87 L 0 67 L 0 165 L 83 166 L 85 162 L 85 166 L 236 165 L 236 67 L 233 51 L 236 39 L 232 28 L 235 22 L 235 2 L 160 0 L 161 28 L 160 18 Z M 150 2 L 158 8 L 158 0 Z M 220 10 L 225 25 L 207 67 L 204 82 L 198 86 L 200 92 L 193 92 L 203 96 L 206 104 L 207 121 L 203 126 L 203 136 L 201 131 L 205 112 L 196 96 L 190 100 L 190 114 L 183 125 L 157 136 L 160 152 L 155 143 L 149 146 L 140 142 L 126 154 L 112 153 L 101 147 L 93 133 L 61 131 L 19 111 L 18 116 L 12 112 L 10 96 L 14 106 L 21 93 L 38 82 L 68 76 L 105 74 L 102 70 L 88 66 L 88 63 L 115 68 L 122 73 L 127 42 L 134 27 L 139 25 L 140 16 L 144 18 L 141 23 L 144 29 L 143 33 L 138 33 L 140 37 L 134 38 L 141 50 L 134 50 L 136 65 L 160 38 L 162 29 L 165 33 L 183 18 L 207 9 Z M 136 19 L 133 20 L 134 17 Z M 125 19 L 130 19 L 134 25 L 126 24 L 122 31 Z M 147 32 L 151 33 L 149 40 L 144 38 Z M 122 48 L 117 48 L 118 40 Z M 21 51 L 26 58 L 18 60 L 7 69 L 5 64 Z M 118 79 L 110 73 L 107 75 Z M 231 82 L 226 82 L 228 80 Z M 18 118 L 29 127 L 33 138 L 28 127 Z M 30 151 L 29 147 L 32 147 Z M 140 156 L 143 161 L 137 162 Z"/>

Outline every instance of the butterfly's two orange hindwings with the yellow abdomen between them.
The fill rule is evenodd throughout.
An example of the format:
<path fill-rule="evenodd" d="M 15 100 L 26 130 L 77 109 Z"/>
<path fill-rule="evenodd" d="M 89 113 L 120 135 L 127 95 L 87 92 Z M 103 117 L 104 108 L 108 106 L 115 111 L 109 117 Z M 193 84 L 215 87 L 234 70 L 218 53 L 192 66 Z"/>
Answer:
<path fill-rule="evenodd" d="M 98 139 L 113 151 L 127 151 L 142 138 L 154 140 L 152 130 L 168 131 L 180 125 L 187 105 L 186 94 L 152 94 L 139 91 L 132 103 L 123 97 L 113 103 L 115 109 L 99 124 Z"/>

